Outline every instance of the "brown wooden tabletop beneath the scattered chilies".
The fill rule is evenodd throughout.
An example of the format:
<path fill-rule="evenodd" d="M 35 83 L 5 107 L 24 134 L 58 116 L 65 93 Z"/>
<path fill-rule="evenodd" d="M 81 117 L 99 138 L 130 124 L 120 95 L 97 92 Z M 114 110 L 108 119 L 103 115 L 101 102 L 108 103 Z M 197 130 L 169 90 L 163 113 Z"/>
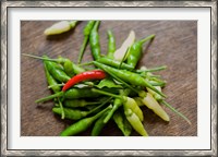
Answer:
<path fill-rule="evenodd" d="M 46 37 L 44 31 L 53 21 L 22 21 L 21 50 L 23 53 L 57 58 L 59 55 L 77 61 L 77 53 L 83 41 L 81 22 L 75 29 L 65 34 Z M 197 135 L 197 22 L 196 21 L 102 21 L 99 27 L 101 53 L 107 52 L 107 29 L 111 29 L 119 48 L 131 29 L 141 39 L 156 34 L 155 40 L 146 48 L 140 65 L 148 68 L 167 65 L 166 71 L 158 72 L 168 82 L 164 93 L 174 108 L 185 114 L 192 122 L 189 125 L 179 116 L 164 107 L 170 116 L 167 123 L 153 111 L 143 108 L 144 125 L 150 136 L 196 136 Z M 90 61 L 89 46 L 83 62 Z M 72 122 L 61 120 L 51 111 L 51 101 L 37 105 L 38 98 L 50 95 L 40 60 L 21 56 L 21 135 L 57 136 Z M 89 135 L 90 129 L 80 135 Z M 120 136 L 113 121 L 102 130 L 104 136 Z M 133 136 L 138 136 L 133 132 Z"/>

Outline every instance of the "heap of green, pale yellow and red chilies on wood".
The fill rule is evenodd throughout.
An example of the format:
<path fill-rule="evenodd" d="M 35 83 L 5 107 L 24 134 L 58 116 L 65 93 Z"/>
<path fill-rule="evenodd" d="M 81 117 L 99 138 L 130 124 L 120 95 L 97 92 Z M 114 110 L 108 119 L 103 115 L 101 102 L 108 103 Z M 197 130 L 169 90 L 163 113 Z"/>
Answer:
<path fill-rule="evenodd" d="M 63 24 L 60 27 L 56 24 L 56 29 L 53 26 L 47 28 L 46 35 L 74 28 L 77 22 L 74 21 L 73 27 L 70 27 L 70 22 Z M 109 121 L 113 121 L 124 136 L 131 135 L 133 131 L 148 136 L 142 108 L 147 107 L 164 121 L 170 121 L 162 105 L 191 124 L 185 116 L 166 102 L 167 96 L 161 92 L 166 82 L 153 73 L 165 70 L 166 67 L 138 68 L 143 45 L 152 41 L 155 35 L 134 41 L 120 61 L 113 56 L 117 47 L 112 31 L 108 31 L 108 53 L 101 55 L 99 24 L 100 21 L 89 21 L 84 27 L 84 41 L 77 63 L 63 57 L 51 59 L 47 56 L 24 55 L 44 61 L 48 87 L 52 90 L 52 95 L 37 99 L 36 102 L 53 100 L 53 113 L 60 114 L 61 119 L 72 120 L 72 124 L 60 135 L 78 135 L 93 128 L 90 135 L 97 136 Z M 94 60 L 80 64 L 88 44 Z M 87 64 L 92 64 L 93 69 L 86 70 Z"/>

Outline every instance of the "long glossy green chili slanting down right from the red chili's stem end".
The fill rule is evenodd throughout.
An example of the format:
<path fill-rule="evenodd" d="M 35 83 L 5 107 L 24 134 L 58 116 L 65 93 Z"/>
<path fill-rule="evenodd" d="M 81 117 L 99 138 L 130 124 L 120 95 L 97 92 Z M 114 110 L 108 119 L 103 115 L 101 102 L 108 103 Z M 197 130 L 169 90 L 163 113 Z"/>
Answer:
<path fill-rule="evenodd" d="M 114 74 L 116 76 L 118 76 L 119 78 L 123 80 L 124 82 L 129 82 L 133 85 L 138 85 L 138 86 L 144 86 L 144 87 L 148 87 L 155 92 L 157 92 L 159 95 L 166 97 L 161 92 L 159 92 L 158 89 L 156 89 L 154 86 L 152 86 L 144 77 L 142 77 L 141 75 L 126 71 L 126 70 L 118 70 L 108 65 L 105 65 L 102 63 L 99 63 L 97 61 L 93 61 L 94 64 L 102 70 L 105 70 L 106 72 L 111 72 L 112 74 Z"/>

